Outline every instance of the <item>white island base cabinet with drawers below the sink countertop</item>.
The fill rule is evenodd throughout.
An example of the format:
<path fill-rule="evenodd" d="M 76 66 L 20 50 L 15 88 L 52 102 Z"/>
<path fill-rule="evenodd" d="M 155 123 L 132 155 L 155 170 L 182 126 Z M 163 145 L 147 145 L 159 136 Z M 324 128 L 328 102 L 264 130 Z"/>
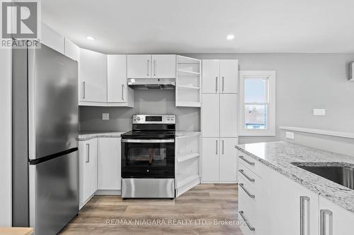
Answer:
<path fill-rule="evenodd" d="M 349 235 L 354 213 L 239 152 L 239 219 L 244 234 Z M 244 218 L 243 218 L 244 217 Z"/>

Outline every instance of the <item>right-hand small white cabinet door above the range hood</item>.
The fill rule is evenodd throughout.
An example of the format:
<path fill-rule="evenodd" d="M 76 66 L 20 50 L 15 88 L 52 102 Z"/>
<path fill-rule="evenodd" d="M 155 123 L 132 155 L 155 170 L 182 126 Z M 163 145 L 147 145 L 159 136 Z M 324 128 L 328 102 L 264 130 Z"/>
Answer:
<path fill-rule="evenodd" d="M 176 55 L 153 54 L 152 78 L 176 78 Z"/>

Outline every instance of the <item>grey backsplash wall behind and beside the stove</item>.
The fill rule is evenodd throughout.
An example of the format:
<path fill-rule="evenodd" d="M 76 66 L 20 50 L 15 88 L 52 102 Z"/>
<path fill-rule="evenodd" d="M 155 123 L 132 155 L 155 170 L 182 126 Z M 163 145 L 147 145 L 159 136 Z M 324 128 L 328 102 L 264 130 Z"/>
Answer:
<path fill-rule="evenodd" d="M 200 131 L 200 108 L 176 107 L 174 90 L 135 90 L 134 108 L 80 107 L 81 131 L 130 131 L 133 114 L 175 114 L 178 131 Z M 102 120 L 108 112 L 110 120 Z"/>

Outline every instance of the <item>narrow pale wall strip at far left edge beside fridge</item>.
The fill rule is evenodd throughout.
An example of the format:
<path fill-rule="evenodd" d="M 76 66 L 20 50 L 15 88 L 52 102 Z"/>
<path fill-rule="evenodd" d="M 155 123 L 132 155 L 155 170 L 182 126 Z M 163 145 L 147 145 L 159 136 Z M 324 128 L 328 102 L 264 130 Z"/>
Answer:
<path fill-rule="evenodd" d="M 0 227 L 11 226 L 11 50 L 0 49 Z"/>

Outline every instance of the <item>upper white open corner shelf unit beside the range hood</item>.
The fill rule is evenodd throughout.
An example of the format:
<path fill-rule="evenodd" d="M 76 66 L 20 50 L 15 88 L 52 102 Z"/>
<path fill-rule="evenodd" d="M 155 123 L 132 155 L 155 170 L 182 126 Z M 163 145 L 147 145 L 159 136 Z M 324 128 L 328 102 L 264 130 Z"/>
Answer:
<path fill-rule="evenodd" d="M 201 107 L 201 61 L 177 56 L 176 107 Z"/>

